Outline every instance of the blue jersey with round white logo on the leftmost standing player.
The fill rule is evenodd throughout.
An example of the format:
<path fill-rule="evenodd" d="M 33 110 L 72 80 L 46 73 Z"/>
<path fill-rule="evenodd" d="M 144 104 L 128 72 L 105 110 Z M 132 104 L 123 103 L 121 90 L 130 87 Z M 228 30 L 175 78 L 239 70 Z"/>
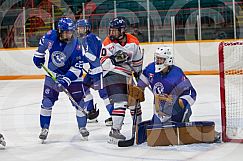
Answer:
<path fill-rule="evenodd" d="M 49 51 L 48 68 L 66 77 L 69 84 L 82 75 L 84 58 L 77 38 L 65 43 L 59 40 L 56 30 L 50 30 L 40 39 L 35 55 L 45 55 L 46 50 Z"/>

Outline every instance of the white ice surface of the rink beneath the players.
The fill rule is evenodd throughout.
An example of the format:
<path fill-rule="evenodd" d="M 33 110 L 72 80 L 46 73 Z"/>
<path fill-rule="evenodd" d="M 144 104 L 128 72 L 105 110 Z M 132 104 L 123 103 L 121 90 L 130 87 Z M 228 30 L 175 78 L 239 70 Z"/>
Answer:
<path fill-rule="evenodd" d="M 192 107 L 191 120 L 215 121 L 221 131 L 219 76 L 189 76 L 198 97 Z M 168 147 L 148 147 L 146 143 L 127 148 L 108 144 L 110 127 L 103 101 L 93 92 L 100 109 L 99 123 L 89 123 L 89 141 L 82 141 L 75 110 L 67 96 L 61 94 L 53 108 L 53 117 L 46 144 L 38 139 L 39 112 L 43 80 L 0 81 L 0 133 L 7 142 L 0 150 L 0 161 L 225 161 L 243 160 L 243 144 L 214 143 Z M 145 93 L 143 120 L 152 116 L 152 94 Z M 131 137 L 131 117 L 127 110 L 122 133 Z"/>

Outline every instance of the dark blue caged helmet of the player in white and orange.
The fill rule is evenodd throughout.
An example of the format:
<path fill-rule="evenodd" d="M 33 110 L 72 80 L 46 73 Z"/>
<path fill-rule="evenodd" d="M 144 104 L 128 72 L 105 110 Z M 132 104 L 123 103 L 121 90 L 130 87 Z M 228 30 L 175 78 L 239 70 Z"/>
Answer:
<path fill-rule="evenodd" d="M 124 38 L 126 32 L 126 21 L 123 17 L 117 17 L 110 21 L 109 23 L 109 37 L 110 40 L 121 40 Z M 114 29 L 118 31 L 118 33 L 113 33 Z"/>

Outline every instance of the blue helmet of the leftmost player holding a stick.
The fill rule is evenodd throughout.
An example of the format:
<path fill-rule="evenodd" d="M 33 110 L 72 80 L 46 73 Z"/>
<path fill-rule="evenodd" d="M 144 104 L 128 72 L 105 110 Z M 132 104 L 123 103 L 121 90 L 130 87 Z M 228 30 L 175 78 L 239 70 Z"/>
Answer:
<path fill-rule="evenodd" d="M 75 24 L 74 24 L 74 22 L 71 18 L 64 17 L 64 18 L 61 18 L 58 21 L 57 28 L 60 31 L 74 31 L 75 30 Z"/>

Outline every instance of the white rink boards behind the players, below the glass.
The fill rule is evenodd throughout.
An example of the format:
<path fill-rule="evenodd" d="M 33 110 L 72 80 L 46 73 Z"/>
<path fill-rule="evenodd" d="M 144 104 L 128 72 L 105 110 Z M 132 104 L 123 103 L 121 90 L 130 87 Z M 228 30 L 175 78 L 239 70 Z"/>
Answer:
<path fill-rule="evenodd" d="M 175 64 L 185 71 L 218 70 L 218 42 L 165 44 L 173 47 Z M 141 45 L 145 51 L 144 66 L 154 60 L 153 53 L 161 44 Z M 32 57 L 36 48 L 0 50 L 0 76 L 44 74 L 37 69 Z M 46 57 L 47 58 L 47 57 Z"/>

